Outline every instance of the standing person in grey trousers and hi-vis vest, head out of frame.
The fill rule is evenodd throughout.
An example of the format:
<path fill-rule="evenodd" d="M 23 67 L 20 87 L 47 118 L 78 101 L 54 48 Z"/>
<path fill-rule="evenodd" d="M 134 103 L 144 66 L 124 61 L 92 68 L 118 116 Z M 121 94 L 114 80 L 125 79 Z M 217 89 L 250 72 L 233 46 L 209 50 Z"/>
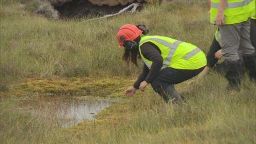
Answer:
<path fill-rule="evenodd" d="M 227 63 L 227 89 L 239 89 L 243 78 L 241 49 L 250 78 L 256 79 L 256 53 L 250 41 L 249 18 L 255 15 L 255 0 L 211 0 L 210 21 L 219 26 L 221 53 Z"/>

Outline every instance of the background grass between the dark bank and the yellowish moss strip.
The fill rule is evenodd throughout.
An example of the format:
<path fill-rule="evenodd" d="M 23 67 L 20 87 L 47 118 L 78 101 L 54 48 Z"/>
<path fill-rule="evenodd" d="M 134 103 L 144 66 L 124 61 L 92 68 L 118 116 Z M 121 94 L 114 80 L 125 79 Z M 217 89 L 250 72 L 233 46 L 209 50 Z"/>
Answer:
<path fill-rule="evenodd" d="M 127 71 L 121 61 L 123 50 L 118 49 L 116 33 L 125 23 L 144 23 L 150 27 L 150 35 L 192 42 L 206 51 L 212 36 L 209 39 L 204 36 L 214 28 L 209 25 L 203 6 L 201 3 L 155 5 L 142 13 L 91 22 L 53 21 L 31 15 L 17 5 L 2 6 L 1 74 L 20 77 L 137 74 L 139 69 L 134 66 Z M 198 14 L 191 16 L 192 12 Z M 162 13 L 168 19 L 161 17 Z"/>

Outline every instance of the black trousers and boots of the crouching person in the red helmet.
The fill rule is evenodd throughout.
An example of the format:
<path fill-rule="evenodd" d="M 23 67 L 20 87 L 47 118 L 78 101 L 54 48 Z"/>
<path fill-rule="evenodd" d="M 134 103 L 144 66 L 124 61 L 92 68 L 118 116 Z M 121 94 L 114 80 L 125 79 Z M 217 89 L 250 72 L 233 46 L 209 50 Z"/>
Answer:
<path fill-rule="evenodd" d="M 171 67 L 166 67 L 165 69 L 161 69 L 159 75 L 155 77 L 155 79 L 151 82 L 151 86 L 154 91 L 159 93 L 161 97 L 166 102 L 169 102 L 169 99 L 172 98 L 175 101 L 181 100 L 179 94 L 175 91 L 174 84 L 181 83 L 195 75 L 198 75 L 203 71 L 205 67 L 201 67 L 200 69 L 173 69 Z"/>

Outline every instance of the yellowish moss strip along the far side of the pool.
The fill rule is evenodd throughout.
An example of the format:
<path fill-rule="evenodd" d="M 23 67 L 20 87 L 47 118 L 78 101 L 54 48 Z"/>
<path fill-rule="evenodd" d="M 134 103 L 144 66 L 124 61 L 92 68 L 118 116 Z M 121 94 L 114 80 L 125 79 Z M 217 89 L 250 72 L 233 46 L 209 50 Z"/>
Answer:
<path fill-rule="evenodd" d="M 133 79 L 135 81 L 135 79 Z M 94 96 L 122 97 L 126 87 L 133 82 L 123 77 L 103 78 L 60 78 L 23 79 L 13 83 L 9 91 L 1 92 L 6 96 L 58 95 L 58 96 Z"/>

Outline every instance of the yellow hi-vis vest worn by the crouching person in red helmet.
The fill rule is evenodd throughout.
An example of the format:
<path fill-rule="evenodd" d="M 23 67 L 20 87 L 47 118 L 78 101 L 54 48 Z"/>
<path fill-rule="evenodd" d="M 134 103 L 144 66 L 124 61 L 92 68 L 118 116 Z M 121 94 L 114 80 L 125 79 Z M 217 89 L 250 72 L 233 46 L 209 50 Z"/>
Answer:
<path fill-rule="evenodd" d="M 139 53 L 144 63 L 151 68 L 152 61 L 146 59 L 141 53 L 141 45 L 151 42 L 160 49 L 163 57 L 163 67 L 172 67 L 174 69 L 199 69 L 206 65 L 205 53 L 197 46 L 183 41 L 177 41 L 169 37 L 157 35 L 141 37 L 139 42 Z"/>

